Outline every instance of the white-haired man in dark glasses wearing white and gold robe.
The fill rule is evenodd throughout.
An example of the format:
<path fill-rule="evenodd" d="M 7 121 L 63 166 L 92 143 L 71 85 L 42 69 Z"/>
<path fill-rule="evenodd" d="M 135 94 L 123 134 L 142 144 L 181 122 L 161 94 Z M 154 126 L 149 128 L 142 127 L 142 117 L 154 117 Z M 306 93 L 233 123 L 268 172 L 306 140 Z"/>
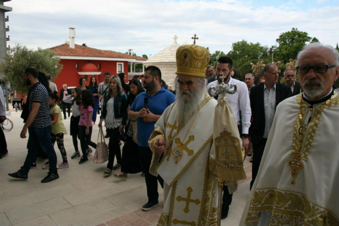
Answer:
<path fill-rule="evenodd" d="M 339 53 L 298 54 L 302 94 L 279 104 L 240 225 L 339 225 Z"/>

